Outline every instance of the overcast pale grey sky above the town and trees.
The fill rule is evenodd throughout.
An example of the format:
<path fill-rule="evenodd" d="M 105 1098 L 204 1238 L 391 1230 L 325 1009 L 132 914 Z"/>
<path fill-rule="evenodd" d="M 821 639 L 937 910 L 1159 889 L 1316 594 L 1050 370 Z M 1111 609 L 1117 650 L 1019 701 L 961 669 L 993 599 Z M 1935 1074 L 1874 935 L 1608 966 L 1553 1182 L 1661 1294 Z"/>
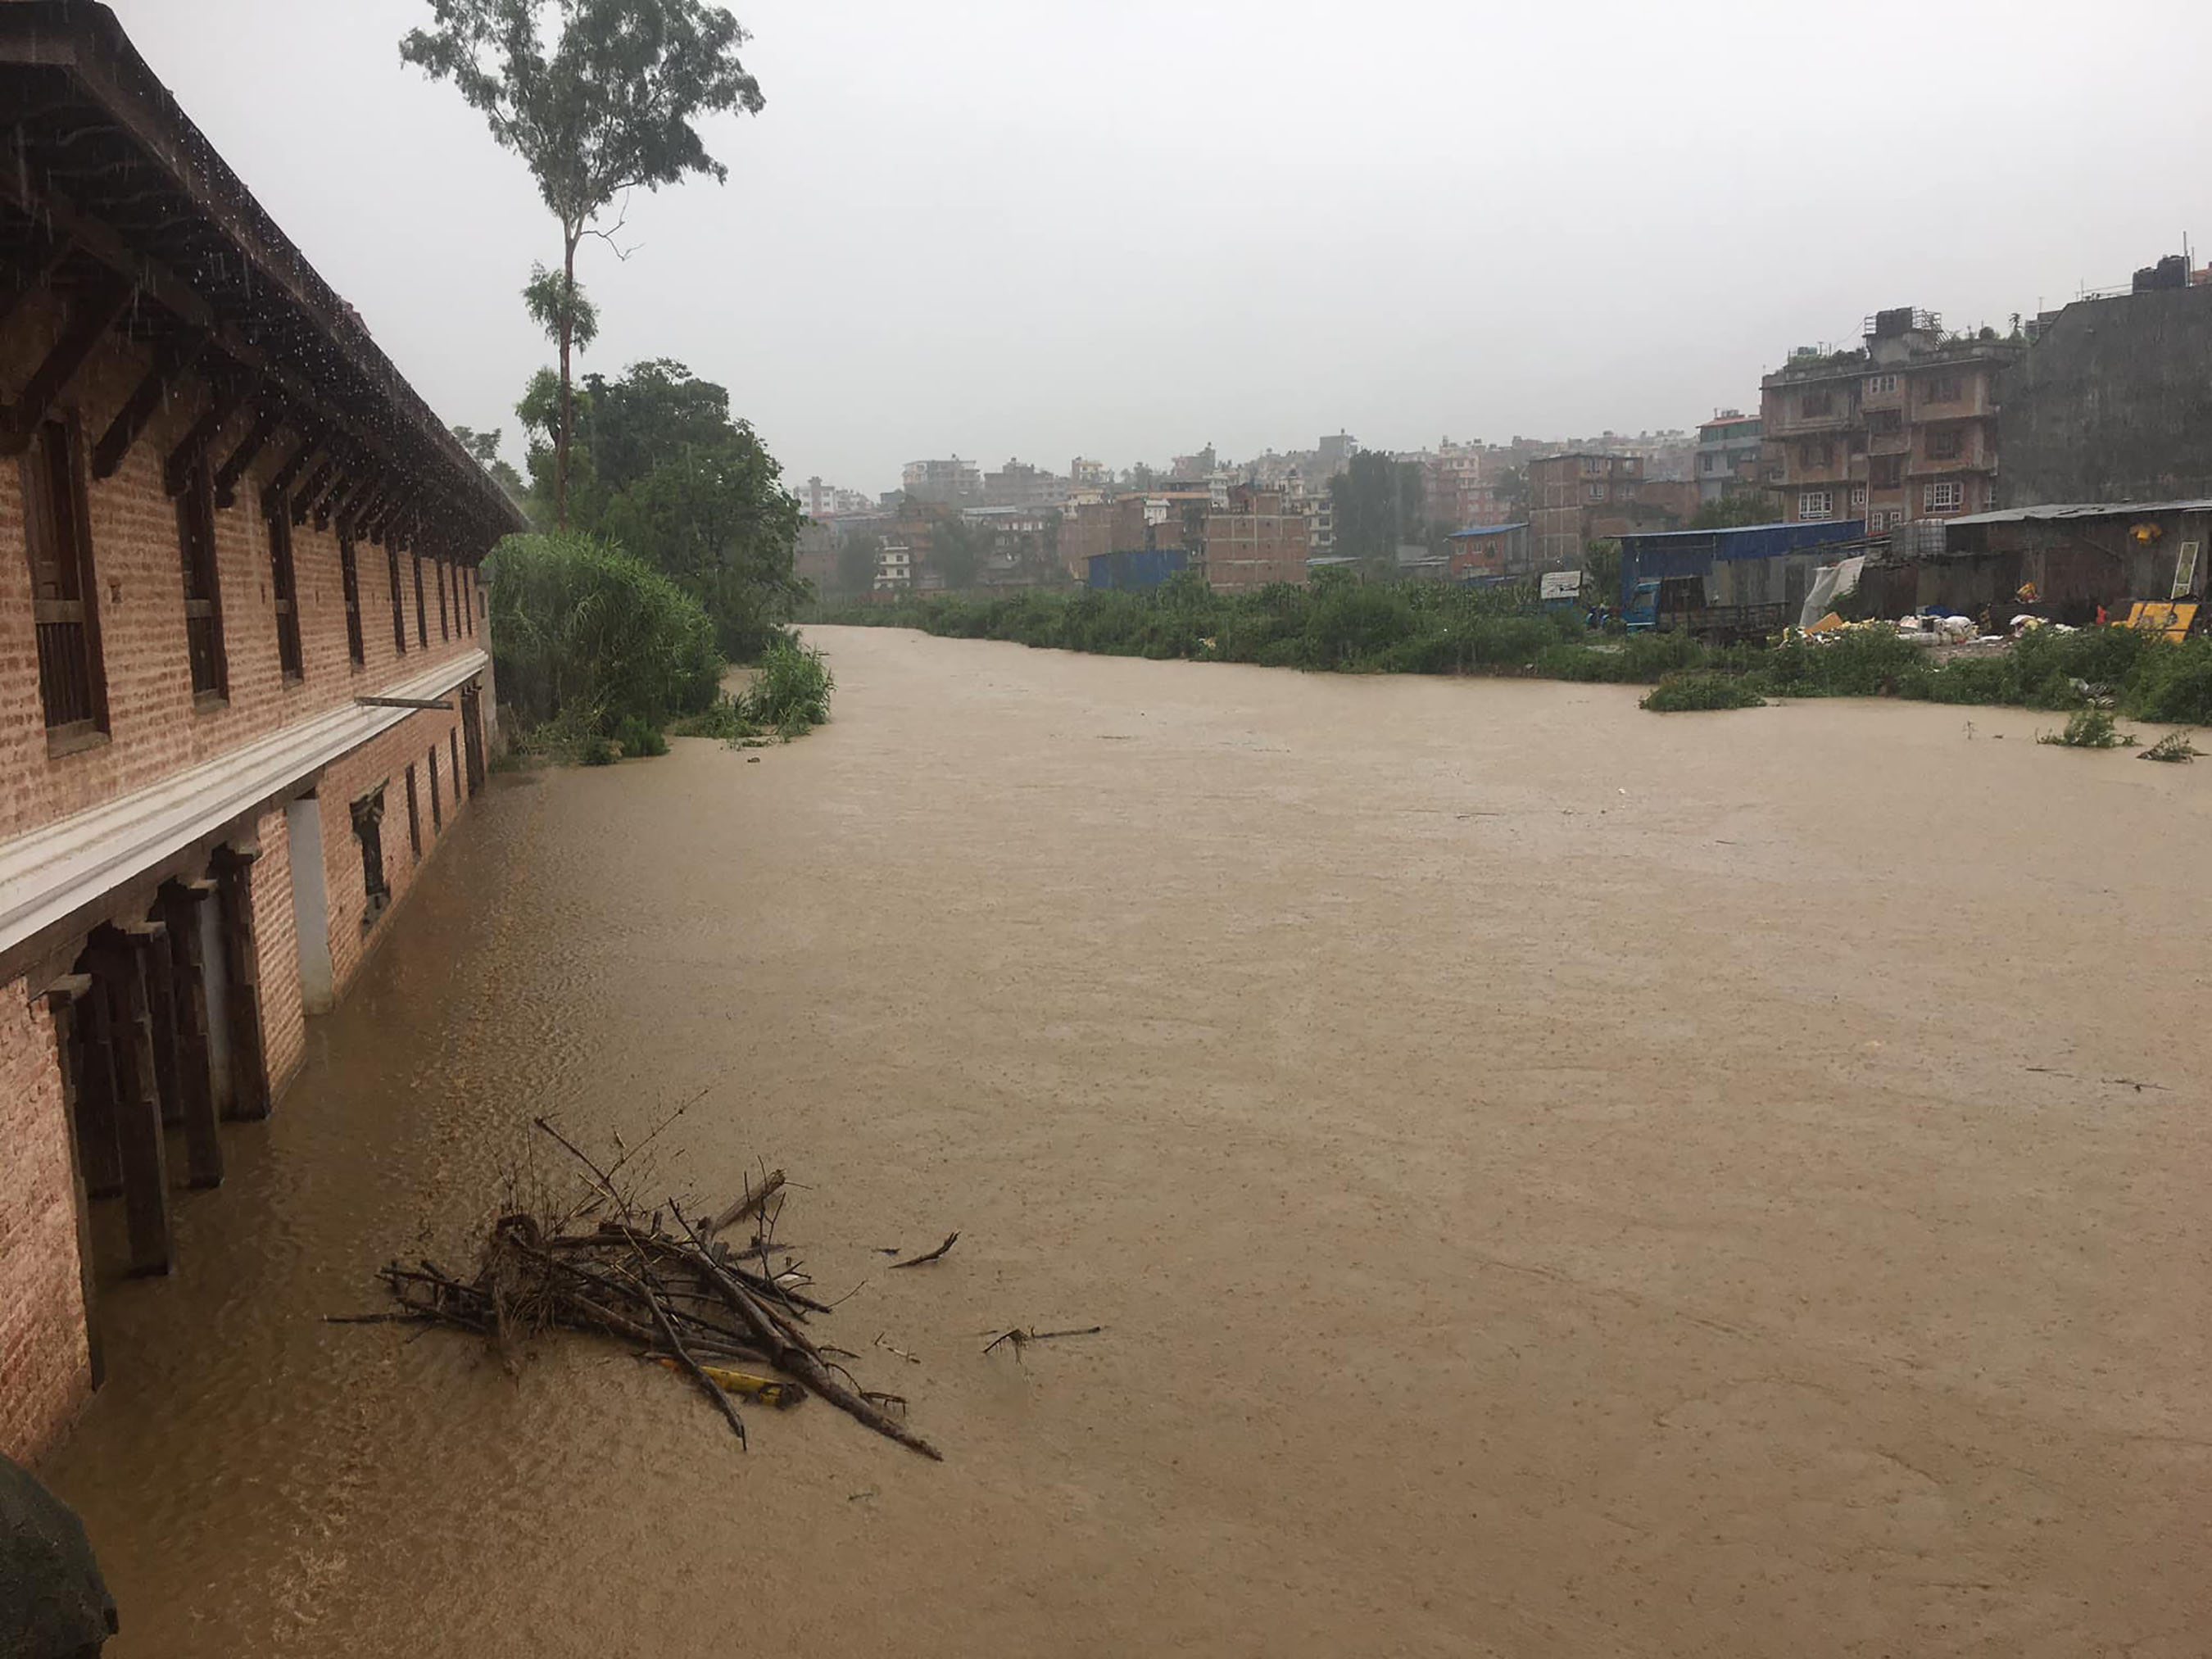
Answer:
<path fill-rule="evenodd" d="M 111 0 L 449 420 L 557 254 L 398 62 L 422 0 Z M 728 186 L 630 206 L 586 367 L 723 380 L 785 473 L 1692 425 L 1880 305 L 2006 323 L 2212 241 L 2201 0 L 743 0 Z M 2203 259 L 2203 254 L 2199 254 Z"/>

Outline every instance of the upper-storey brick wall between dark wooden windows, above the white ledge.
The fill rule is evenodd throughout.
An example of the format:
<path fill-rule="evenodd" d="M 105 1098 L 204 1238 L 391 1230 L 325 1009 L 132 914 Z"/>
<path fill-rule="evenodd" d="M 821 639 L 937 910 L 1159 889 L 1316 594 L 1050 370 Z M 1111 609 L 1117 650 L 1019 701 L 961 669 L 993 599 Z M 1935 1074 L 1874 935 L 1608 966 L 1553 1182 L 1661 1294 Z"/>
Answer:
<path fill-rule="evenodd" d="M 29 310 L 29 307 L 27 307 Z M 40 319 L 51 327 L 51 314 Z M 29 316 L 9 330 L 15 349 L 0 358 L 0 383 L 13 387 L 46 327 Z M 106 431 L 115 409 L 144 372 L 144 352 L 113 341 L 77 378 L 66 400 L 80 429 L 80 460 Z M 365 664 L 354 668 L 345 639 L 345 599 L 338 573 L 336 526 L 314 520 L 292 531 L 299 593 L 301 657 L 305 675 L 285 684 L 276 657 L 276 611 L 270 595 L 270 531 L 261 520 L 261 489 L 292 453 L 294 438 L 279 434 L 239 482 L 239 500 L 215 513 L 217 582 L 221 593 L 228 701 L 195 710 L 184 637 L 184 564 L 177 544 L 177 507 L 161 489 L 161 465 L 204 407 L 197 385 L 179 392 L 139 436 L 122 469 L 88 482 L 93 568 L 97 575 L 100 639 L 108 688 L 108 743 L 46 757 L 38 701 L 38 641 L 31 628 L 31 573 L 22 531 L 22 469 L 0 460 L 0 841 L 40 823 L 80 812 L 115 794 L 146 787 L 159 776 L 283 726 L 378 692 L 438 659 L 482 646 L 489 630 L 473 573 L 462 571 L 476 606 L 476 633 L 460 628 L 449 604 L 449 635 L 438 630 L 438 568 L 422 562 L 422 611 L 429 641 L 418 644 L 414 564 L 400 560 L 400 602 L 407 653 L 392 637 L 392 577 L 387 553 L 358 546 L 361 637 Z M 210 456 L 219 465 L 243 438 L 252 416 L 241 411 Z M 88 478 L 88 473 L 86 473 Z"/>

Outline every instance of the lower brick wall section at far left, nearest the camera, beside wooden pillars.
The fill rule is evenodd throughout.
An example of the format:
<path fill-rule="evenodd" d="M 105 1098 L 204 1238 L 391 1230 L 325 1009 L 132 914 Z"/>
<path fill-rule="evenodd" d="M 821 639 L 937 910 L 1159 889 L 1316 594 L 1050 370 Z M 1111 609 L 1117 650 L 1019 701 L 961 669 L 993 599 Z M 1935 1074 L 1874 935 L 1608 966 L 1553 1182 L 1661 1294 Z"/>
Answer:
<path fill-rule="evenodd" d="M 29 1462 L 93 1389 L 53 1018 L 0 984 L 0 1453 Z"/>

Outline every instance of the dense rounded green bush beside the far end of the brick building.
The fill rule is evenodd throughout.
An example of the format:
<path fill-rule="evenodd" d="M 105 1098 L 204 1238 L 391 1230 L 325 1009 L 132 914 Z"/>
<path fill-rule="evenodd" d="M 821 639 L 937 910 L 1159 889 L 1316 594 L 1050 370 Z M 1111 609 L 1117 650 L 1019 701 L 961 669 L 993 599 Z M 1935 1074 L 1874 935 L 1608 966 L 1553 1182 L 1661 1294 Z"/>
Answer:
<path fill-rule="evenodd" d="M 491 560 L 500 699 L 522 726 L 613 737 L 706 708 L 714 624 L 641 560 L 584 535 L 509 535 Z"/>

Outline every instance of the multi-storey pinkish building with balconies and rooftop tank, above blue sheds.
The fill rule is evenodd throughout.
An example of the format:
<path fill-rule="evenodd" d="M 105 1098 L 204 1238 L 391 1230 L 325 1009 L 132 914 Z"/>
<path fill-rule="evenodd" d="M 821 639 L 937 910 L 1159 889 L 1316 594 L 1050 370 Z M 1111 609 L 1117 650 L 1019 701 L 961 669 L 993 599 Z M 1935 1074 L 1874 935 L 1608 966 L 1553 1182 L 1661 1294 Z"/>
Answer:
<path fill-rule="evenodd" d="M 1858 352 L 1796 352 L 1759 383 L 1765 487 L 1783 518 L 1863 518 L 1878 535 L 1989 509 L 1997 376 L 2022 349 L 1947 336 L 1933 312 L 1902 307 L 1869 316 Z"/>

